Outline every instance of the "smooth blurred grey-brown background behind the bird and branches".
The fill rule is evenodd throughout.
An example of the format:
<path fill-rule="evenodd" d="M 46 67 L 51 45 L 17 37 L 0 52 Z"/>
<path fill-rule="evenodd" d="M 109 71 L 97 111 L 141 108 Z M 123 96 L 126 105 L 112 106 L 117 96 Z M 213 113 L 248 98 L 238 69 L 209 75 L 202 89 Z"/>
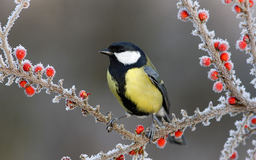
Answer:
<path fill-rule="evenodd" d="M 28 50 L 26 59 L 33 64 L 54 66 L 54 83 L 63 78 L 65 88 L 75 85 L 77 94 L 80 90 L 90 92 L 89 104 L 94 107 L 99 104 L 102 114 L 112 111 L 114 117 L 123 115 L 124 110 L 107 86 L 109 59 L 98 51 L 113 42 L 133 42 L 154 63 L 169 93 L 171 113 L 180 118 L 180 109 L 192 115 L 196 107 L 203 110 L 210 101 L 217 105 L 224 92 L 212 91 L 213 82 L 207 79 L 207 71 L 213 66 L 201 67 L 198 59 L 208 53 L 198 50 L 201 40 L 192 36 L 192 23 L 177 19 L 176 3 L 174 0 L 32 0 L 29 8 L 20 13 L 8 41 L 13 48 L 24 46 Z M 224 5 L 221 0 L 199 0 L 199 4 L 200 8 L 210 10 L 208 29 L 215 30 L 216 38 L 229 41 L 236 75 L 255 96 L 250 84 L 253 77 L 249 75 L 252 66 L 246 63 L 249 55 L 235 49 L 241 19 L 236 19 L 231 11 L 233 4 Z M 0 1 L 2 26 L 14 8 L 13 1 Z M 106 153 L 117 143 L 131 143 L 122 140 L 115 131 L 108 133 L 106 125 L 95 123 L 92 116 L 84 117 L 80 108 L 66 111 L 64 100 L 53 104 L 54 93 L 48 95 L 42 90 L 27 97 L 17 84 L 7 87 L 6 82 L 7 78 L 0 84 L 1 159 L 59 160 L 70 156 L 78 160 L 80 154 Z M 187 128 L 184 134 L 188 147 L 167 144 L 159 149 L 155 144 L 148 144 L 148 157 L 218 159 L 229 130 L 235 129 L 234 122 L 241 117 L 241 114 L 226 115 L 220 122 L 210 120 L 211 125 L 207 127 L 197 124 L 196 131 Z M 133 117 L 118 124 L 133 132 L 137 124 L 150 126 L 151 118 Z M 237 148 L 239 159 L 244 159 L 246 150 L 252 148 L 251 139 L 246 146 Z M 129 155 L 125 157 L 132 159 Z"/>

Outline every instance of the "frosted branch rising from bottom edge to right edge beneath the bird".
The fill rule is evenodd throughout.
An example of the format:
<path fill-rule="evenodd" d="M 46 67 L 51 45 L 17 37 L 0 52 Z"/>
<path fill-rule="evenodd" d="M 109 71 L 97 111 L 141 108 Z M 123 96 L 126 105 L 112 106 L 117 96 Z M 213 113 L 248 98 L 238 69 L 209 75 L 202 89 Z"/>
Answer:
<path fill-rule="evenodd" d="M 215 107 L 213 107 L 212 103 L 210 102 L 209 106 L 206 109 L 204 109 L 204 111 L 202 111 L 202 112 L 199 110 L 199 108 L 197 108 L 195 110 L 195 114 L 192 116 L 188 116 L 186 111 L 182 110 L 181 111 L 182 116 L 183 116 L 182 119 L 177 119 L 176 116 L 173 114 L 172 122 L 171 123 L 164 122 L 164 126 L 160 127 L 157 130 L 157 133 L 155 136 L 158 139 L 158 138 L 162 137 L 163 135 L 168 135 L 168 134 L 173 135 L 175 133 L 175 131 L 177 131 L 179 129 L 185 129 L 189 126 L 191 127 L 192 131 L 194 131 L 195 125 L 199 122 L 202 122 L 204 126 L 207 126 L 210 124 L 210 122 L 209 122 L 210 119 L 216 118 L 216 120 L 219 121 L 223 115 L 228 114 L 228 113 L 231 114 L 231 116 L 234 116 L 238 113 L 246 112 L 246 110 L 247 111 L 248 110 L 250 110 L 250 111 L 256 110 L 256 106 L 255 106 L 256 104 L 252 108 L 246 108 L 243 106 L 234 106 L 234 105 L 225 104 L 226 101 L 225 101 L 224 97 L 221 97 L 219 99 L 219 101 L 221 103 Z M 145 138 L 144 136 L 143 137 L 140 136 L 140 138 L 141 139 L 139 142 L 131 144 L 127 147 L 124 147 L 122 149 L 119 148 L 118 150 L 113 149 L 112 150 L 113 152 L 111 152 L 111 155 L 116 156 L 116 155 L 120 155 L 120 154 L 126 154 L 127 151 L 132 151 L 132 150 L 142 146 L 143 144 L 148 143 L 148 139 Z M 93 156 L 91 158 L 98 160 L 98 159 L 104 159 L 109 156 L 110 156 L 109 154 L 102 154 L 102 152 L 100 152 L 99 154 L 97 154 L 97 156 Z M 89 157 L 86 160 L 89 160 Z"/>

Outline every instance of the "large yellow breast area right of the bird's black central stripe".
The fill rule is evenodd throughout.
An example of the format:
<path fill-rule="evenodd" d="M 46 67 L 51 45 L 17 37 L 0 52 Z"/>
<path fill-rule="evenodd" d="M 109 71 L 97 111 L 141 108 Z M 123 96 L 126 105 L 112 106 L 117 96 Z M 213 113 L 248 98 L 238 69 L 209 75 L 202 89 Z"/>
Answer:
<path fill-rule="evenodd" d="M 156 113 L 160 110 L 163 97 L 161 92 L 145 74 L 143 67 L 129 69 L 125 75 L 126 97 L 145 113 Z"/>

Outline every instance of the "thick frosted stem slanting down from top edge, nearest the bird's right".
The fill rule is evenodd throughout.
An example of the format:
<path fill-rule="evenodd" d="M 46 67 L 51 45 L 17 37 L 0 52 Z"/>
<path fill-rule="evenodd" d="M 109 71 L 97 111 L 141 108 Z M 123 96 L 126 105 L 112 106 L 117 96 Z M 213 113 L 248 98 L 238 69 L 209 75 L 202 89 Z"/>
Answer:
<path fill-rule="evenodd" d="M 247 97 L 244 97 L 242 91 L 239 89 L 240 83 L 234 83 L 235 81 L 240 80 L 237 80 L 236 76 L 234 75 L 234 71 L 232 70 L 233 63 L 226 62 L 227 65 L 224 65 L 223 61 L 220 59 L 219 51 L 227 51 L 227 49 L 229 48 L 228 42 L 219 40 L 218 50 L 215 48 L 214 41 L 216 40 L 213 40 L 215 33 L 214 31 L 208 31 L 205 24 L 209 18 L 208 11 L 198 10 L 198 3 L 195 1 L 195 3 L 192 4 L 192 1 L 190 0 L 181 0 L 181 2 L 177 4 L 177 6 L 178 8 L 180 8 L 181 11 L 184 8 L 189 14 L 189 17 L 187 19 L 191 20 L 195 27 L 195 30 L 193 30 L 192 34 L 195 36 L 199 36 L 203 41 L 203 43 L 199 44 L 199 49 L 207 51 L 211 56 L 211 62 L 215 65 L 215 68 L 218 72 L 218 77 L 221 79 L 221 81 L 225 83 L 226 87 L 224 89 L 229 91 L 233 97 L 236 97 L 236 99 L 239 100 L 240 104 L 243 104 L 244 106 L 251 106 L 251 102 L 249 101 L 249 99 Z M 204 15 L 204 17 L 200 19 L 200 17 L 198 16 L 199 13 L 202 13 L 201 15 Z M 204 57 L 202 57 L 201 61 L 204 61 Z M 220 91 L 216 90 L 216 92 Z"/>

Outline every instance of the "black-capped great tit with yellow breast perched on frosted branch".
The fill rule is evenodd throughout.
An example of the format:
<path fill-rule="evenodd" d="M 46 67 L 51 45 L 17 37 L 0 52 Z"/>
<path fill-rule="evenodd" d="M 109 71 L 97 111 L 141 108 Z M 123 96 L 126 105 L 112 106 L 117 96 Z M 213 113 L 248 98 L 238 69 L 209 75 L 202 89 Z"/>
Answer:
<path fill-rule="evenodd" d="M 120 119 L 132 115 L 152 115 L 152 125 L 146 133 L 149 143 L 152 143 L 156 131 L 155 120 L 160 126 L 162 117 L 171 122 L 170 102 L 163 80 L 144 51 L 131 42 L 115 42 L 99 52 L 108 55 L 110 59 L 108 86 L 126 111 L 125 115 L 112 118 L 107 124 L 107 130 L 112 131 L 113 124 Z M 169 136 L 169 142 L 187 144 L 183 135 L 179 139 Z"/>

